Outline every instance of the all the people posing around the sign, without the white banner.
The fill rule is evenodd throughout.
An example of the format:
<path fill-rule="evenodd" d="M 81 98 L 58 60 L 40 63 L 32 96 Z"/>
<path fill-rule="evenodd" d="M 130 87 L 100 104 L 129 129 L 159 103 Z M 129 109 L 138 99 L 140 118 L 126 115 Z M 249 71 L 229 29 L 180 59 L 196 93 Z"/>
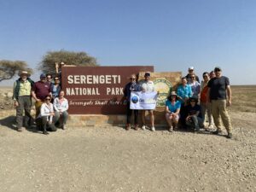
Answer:
<path fill-rule="evenodd" d="M 61 62 L 61 64 L 64 64 Z M 61 68 L 61 67 L 60 67 Z M 58 70 L 56 70 L 58 72 Z M 67 124 L 68 102 L 64 97 L 64 90 L 61 90 L 61 72 L 56 73 L 54 82 L 50 74 L 40 75 L 40 80 L 36 83 L 30 79 L 30 74 L 21 72 L 20 79 L 14 84 L 14 100 L 16 108 L 17 131 L 22 131 L 22 127 L 32 125 L 32 98 L 35 101 L 37 127 L 44 134 L 48 131 L 56 131 L 56 127 L 65 129 Z M 166 121 L 169 131 L 177 130 L 178 127 L 190 127 L 194 131 L 206 128 L 206 114 L 209 122 L 208 128 L 217 127 L 214 134 L 220 134 L 222 123 L 228 132 L 228 138 L 232 137 L 232 126 L 227 106 L 231 105 L 230 81 L 222 76 L 220 67 L 215 67 L 211 73 L 203 73 L 203 80 L 199 82 L 195 75 L 194 67 L 189 67 L 189 73 L 181 79 L 181 84 L 177 86 L 177 91 L 172 91 L 166 101 Z M 131 74 L 130 82 L 125 85 L 124 95 L 127 101 L 126 130 L 131 129 L 131 115 L 134 114 L 134 129 L 138 130 L 138 110 L 130 108 L 131 91 L 153 92 L 154 82 L 150 80 L 150 73 L 144 74 L 144 79 L 137 82 L 136 74 Z M 25 116 L 23 118 L 23 111 Z M 145 113 L 148 111 L 150 119 L 150 129 L 154 128 L 154 110 L 141 110 L 142 129 L 146 130 Z M 213 123 L 214 122 L 214 123 Z M 178 126 L 180 125 L 180 126 Z"/>

